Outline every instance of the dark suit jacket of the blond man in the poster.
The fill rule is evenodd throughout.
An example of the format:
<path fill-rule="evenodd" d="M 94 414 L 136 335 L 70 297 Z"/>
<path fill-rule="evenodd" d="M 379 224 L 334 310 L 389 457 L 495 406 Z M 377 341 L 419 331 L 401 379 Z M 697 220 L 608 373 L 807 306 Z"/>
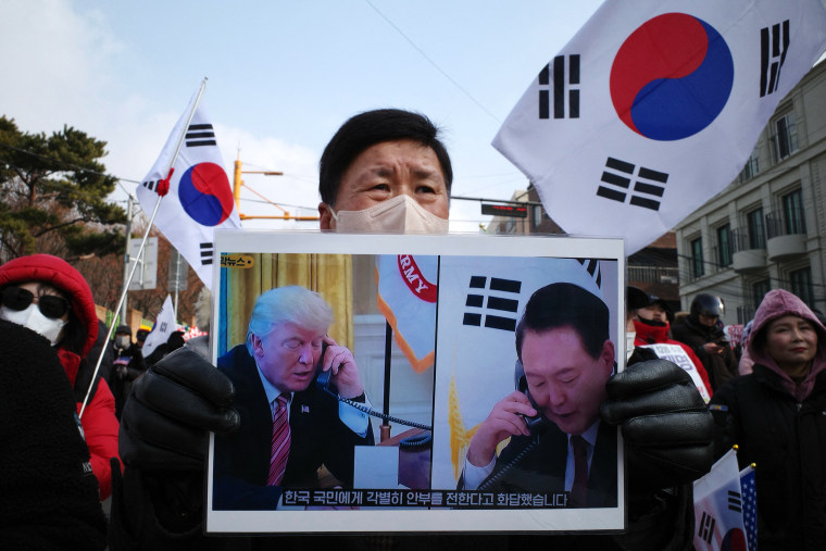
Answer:
<path fill-rule="evenodd" d="M 345 486 L 353 484 L 353 447 L 372 446 L 373 431 L 359 437 L 338 416 L 338 401 L 316 387 L 295 392 L 290 404 L 290 454 L 281 487 L 267 486 L 273 416 L 258 367 L 243 345 L 218 359 L 235 385 L 237 433 L 215 436 L 213 506 L 216 510 L 275 509 L 281 488 L 317 487 L 324 464 Z"/>

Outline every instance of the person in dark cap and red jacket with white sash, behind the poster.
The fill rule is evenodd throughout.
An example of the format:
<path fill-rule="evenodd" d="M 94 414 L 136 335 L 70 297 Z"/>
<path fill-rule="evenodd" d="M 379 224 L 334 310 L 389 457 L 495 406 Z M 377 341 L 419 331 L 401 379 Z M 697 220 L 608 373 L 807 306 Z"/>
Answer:
<path fill-rule="evenodd" d="M 658 355 L 669 360 L 691 375 L 697 384 L 697 389 L 700 391 L 700 396 L 703 397 L 708 403 L 712 397 L 711 383 L 709 383 L 709 374 L 703 366 L 703 363 L 691 350 L 691 347 L 674 340 L 669 337 L 671 324 L 668 323 L 668 304 L 661 298 L 649 295 L 642 289 L 628 286 L 627 288 L 627 308 L 631 315 L 634 325 L 627 324 L 626 331 L 628 334 L 635 334 L 634 346 L 635 347 L 651 347 L 652 345 L 669 345 L 672 347 L 679 347 L 684 353 L 678 350 L 673 350 L 674 353 L 667 353 L 665 349 L 654 350 Z M 665 354 L 662 355 L 662 354 Z M 694 373 L 692 373 L 692 371 Z M 701 388 L 697 380 L 698 375 L 701 384 L 704 388 Z"/>

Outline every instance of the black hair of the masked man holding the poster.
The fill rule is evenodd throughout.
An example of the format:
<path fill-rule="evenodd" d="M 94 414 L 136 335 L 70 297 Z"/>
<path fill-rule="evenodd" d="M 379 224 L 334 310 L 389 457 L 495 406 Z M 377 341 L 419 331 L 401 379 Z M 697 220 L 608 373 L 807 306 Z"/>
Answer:
<path fill-rule="evenodd" d="M 453 168 L 448 150 L 439 140 L 439 128 L 420 113 L 377 109 L 350 117 L 324 148 L 318 162 L 318 192 L 322 201 L 330 206 L 336 204 L 341 177 L 365 149 L 376 143 L 402 139 L 416 141 L 434 150 L 450 193 Z"/>

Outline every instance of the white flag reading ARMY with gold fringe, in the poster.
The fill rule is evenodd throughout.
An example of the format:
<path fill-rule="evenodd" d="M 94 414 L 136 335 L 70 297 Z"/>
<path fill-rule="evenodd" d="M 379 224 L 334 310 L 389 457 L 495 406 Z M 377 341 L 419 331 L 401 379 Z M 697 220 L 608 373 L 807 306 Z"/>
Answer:
<path fill-rule="evenodd" d="M 437 256 L 376 256 L 378 310 L 416 372 L 425 371 L 434 362 L 437 270 Z"/>

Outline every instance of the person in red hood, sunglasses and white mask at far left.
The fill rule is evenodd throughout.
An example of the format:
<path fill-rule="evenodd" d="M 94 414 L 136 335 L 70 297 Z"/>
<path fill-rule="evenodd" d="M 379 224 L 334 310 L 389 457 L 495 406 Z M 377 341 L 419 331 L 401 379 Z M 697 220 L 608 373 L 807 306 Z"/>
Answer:
<path fill-rule="evenodd" d="M 92 381 L 97 359 L 86 358 L 98 336 L 89 285 L 64 260 L 32 254 L 0 266 L 0 318 L 28 327 L 55 348 L 74 389 L 78 413 L 89 385 L 93 385 L 80 424 L 100 499 L 108 498 L 112 491 L 110 459 L 118 458 L 118 423 L 107 381 L 100 376 Z"/>

